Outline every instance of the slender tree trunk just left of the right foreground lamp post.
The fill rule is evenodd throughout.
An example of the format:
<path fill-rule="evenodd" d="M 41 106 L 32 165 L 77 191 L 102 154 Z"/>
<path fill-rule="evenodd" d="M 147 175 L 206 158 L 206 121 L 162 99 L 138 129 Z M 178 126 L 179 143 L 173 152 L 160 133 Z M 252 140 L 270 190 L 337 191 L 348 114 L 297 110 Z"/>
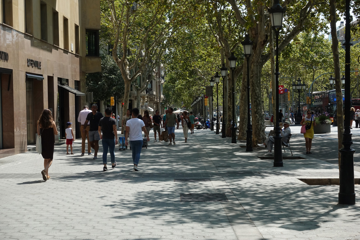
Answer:
<path fill-rule="evenodd" d="M 344 133 L 344 119 L 343 119 L 343 102 L 342 102 L 342 82 L 340 79 L 340 60 L 338 49 L 338 38 L 336 33 L 336 0 L 330 0 L 330 28 L 332 36 L 333 59 L 334 59 L 334 72 L 335 72 L 335 87 L 336 87 L 336 120 L 338 125 L 338 149 L 342 148 L 342 139 Z M 347 109 L 348 110 L 348 109 Z M 340 166 L 340 153 L 338 153 L 339 166 Z"/>

